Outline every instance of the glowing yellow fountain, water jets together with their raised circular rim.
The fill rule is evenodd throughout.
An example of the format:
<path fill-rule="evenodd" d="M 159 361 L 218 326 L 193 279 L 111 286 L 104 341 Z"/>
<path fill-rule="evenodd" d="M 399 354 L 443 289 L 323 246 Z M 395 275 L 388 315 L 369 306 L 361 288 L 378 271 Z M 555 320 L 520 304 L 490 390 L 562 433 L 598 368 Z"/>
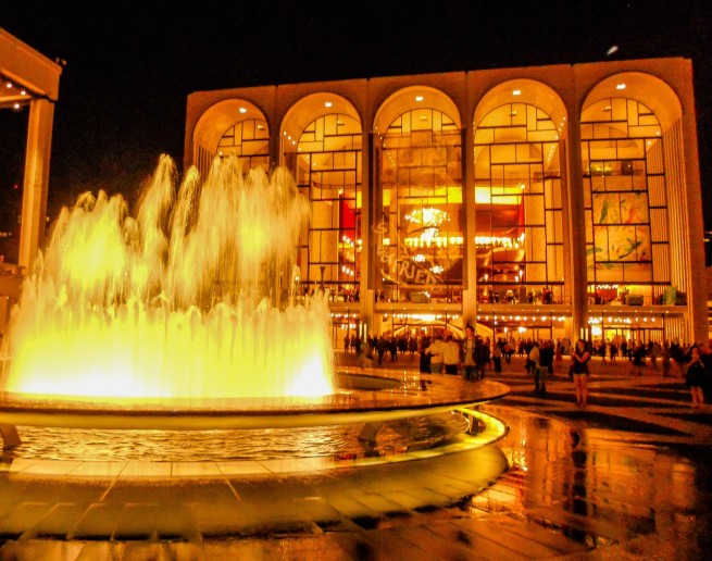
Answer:
<path fill-rule="evenodd" d="M 375 386 L 358 372 L 337 376 L 324 292 L 299 290 L 295 248 L 310 208 L 290 173 L 243 174 L 236 159 L 216 158 L 204 182 L 195 167 L 177 188 L 176 179 L 162 155 L 135 217 L 122 196 L 103 191 L 60 213 L 3 340 L 5 448 L 20 445 L 20 425 L 364 423 L 360 436 L 374 441 L 385 421 L 509 391 L 460 378 L 428 389 L 405 373 Z"/>

